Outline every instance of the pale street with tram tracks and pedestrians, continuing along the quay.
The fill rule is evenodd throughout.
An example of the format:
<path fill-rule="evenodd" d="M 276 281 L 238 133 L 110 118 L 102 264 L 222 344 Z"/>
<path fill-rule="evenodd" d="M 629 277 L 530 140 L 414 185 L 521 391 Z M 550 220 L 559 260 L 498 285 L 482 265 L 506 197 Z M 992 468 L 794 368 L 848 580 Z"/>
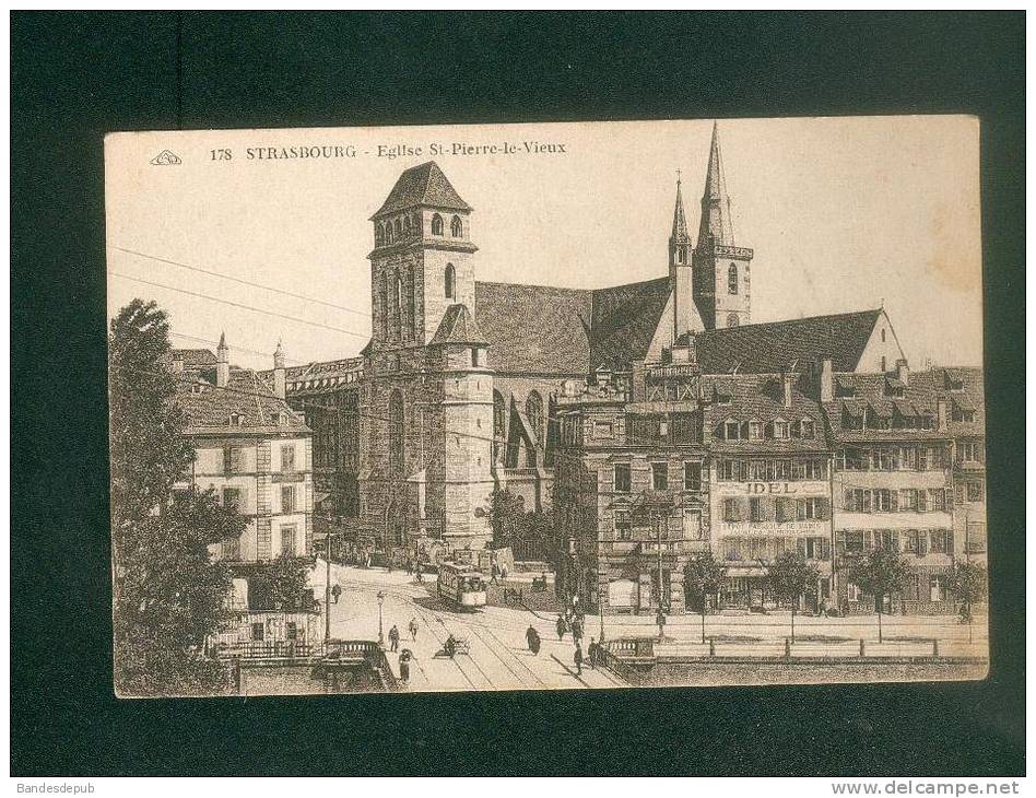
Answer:
<path fill-rule="evenodd" d="M 325 596 L 323 560 L 310 572 L 309 585 L 321 601 Z M 395 624 L 400 634 L 400 652 L 413 653 L 410 683 L 415 691 L 444 690 L 543 690 L 565 688 L 622 686 L 610 672 L 590 668 L 584 662 L 577 673 L 573 655 L 572 635 L 557 639 L 556 617 L 532 613 L 505 607 L 484 607 L 476 612 L 456 612 L 435 595 L 435 577 L 426 576 L 424 584 L 414 584 L 404 571 L 386 572 L 382 568 L 357 568 L 331 565 L 331 585 L 342 588 L 338 603 L 331 603 L 331 637 L 340 639 L 377 639 L 378 600 L 381 607 L 386 654 L 393 672 L 399 676 L 399 653 L 390 650 L 389 630 Z M 411 619 L 417 623 L 416 639 L 411 637 Z M 708 615 L 706 635 L 731 642 L 782 642 L 790 632 L 790 614 L 769 615 Z M 526 630 L 535 627 L 542 639 L 539 655 L 526 644 Z M 590 637 L 600 637 L 600 619 L 587 617 L 584 654 Z M 890 639 L 939 638 L 966 642 L 968 627 L 955 617 L 886 615 L 882 621 L 883 635 Z M 608 639 L 616 637 L 647 637 L 658 633 L 654 618 L 605 617 Z M 323 620 L 320 621 L 320 633 Z M 443 653 L 448 635 L 467 639 L 470 654 L 458 654 L 450 659 Z M 673 643 L 693 643 L 701 639 L 701 617 L 673 615 L 668 619 L 666 636 Z M 986 641 L 985 618 L 977 619 L 972 634 L 976 644 Z M 876 642 L 878 620 L 874 617 L 796 618 L 797 638 L 866 639 Z"/>

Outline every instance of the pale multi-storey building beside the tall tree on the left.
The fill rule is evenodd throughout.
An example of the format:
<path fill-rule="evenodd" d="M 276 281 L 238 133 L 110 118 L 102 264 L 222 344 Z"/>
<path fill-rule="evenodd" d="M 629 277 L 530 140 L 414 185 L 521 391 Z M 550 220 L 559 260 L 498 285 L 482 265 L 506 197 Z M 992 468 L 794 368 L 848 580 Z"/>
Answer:
<path fill-rule="evenodd" d="M 212 553 L 239 566 L 313 549 L 311 433 L 284 400 L 284 364 L 274 355 L 272 384 L 232 366 L 223 337 L 208 350 L 174 350 L 176 402 L 195 446 L 190 471 L 176 491 L 213 490 L 246 519 L 236 540 Z M 247 568 L 244 568 L 247 570 Z"/>

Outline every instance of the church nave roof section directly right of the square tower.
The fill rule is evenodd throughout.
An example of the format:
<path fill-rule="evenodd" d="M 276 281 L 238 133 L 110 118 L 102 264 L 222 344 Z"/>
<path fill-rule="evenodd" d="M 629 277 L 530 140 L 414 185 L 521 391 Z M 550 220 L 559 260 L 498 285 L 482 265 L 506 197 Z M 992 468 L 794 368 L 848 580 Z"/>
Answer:
<path fill-rule="evenodd" d="M 590 291 L 475 283 L 475 321 L 497 372 L 585 375 L 590 371 Z"/>

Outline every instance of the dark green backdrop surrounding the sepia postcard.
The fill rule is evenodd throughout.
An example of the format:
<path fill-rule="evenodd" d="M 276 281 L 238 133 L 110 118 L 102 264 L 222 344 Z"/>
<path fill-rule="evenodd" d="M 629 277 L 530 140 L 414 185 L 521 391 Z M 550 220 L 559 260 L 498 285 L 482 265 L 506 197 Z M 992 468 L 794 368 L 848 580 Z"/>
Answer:
<path fill-rule="evenodd" d="M 12 774 L 1022 773 L 1024 22 L 12 14 Z M 114 697 L 106 131 L 891 113 L 982 120 L 989 680 Z"/>

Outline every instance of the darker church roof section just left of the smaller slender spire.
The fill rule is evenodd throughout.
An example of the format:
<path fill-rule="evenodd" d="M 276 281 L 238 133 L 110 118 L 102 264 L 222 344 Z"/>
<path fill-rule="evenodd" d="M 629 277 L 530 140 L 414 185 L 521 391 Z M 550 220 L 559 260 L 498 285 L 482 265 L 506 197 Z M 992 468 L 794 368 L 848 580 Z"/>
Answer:
<path fill-rule="evenodd" d="M 591 367 L 614 368 L 644 360 L 670 293 L 668 277 L 594 291 Z"/>

